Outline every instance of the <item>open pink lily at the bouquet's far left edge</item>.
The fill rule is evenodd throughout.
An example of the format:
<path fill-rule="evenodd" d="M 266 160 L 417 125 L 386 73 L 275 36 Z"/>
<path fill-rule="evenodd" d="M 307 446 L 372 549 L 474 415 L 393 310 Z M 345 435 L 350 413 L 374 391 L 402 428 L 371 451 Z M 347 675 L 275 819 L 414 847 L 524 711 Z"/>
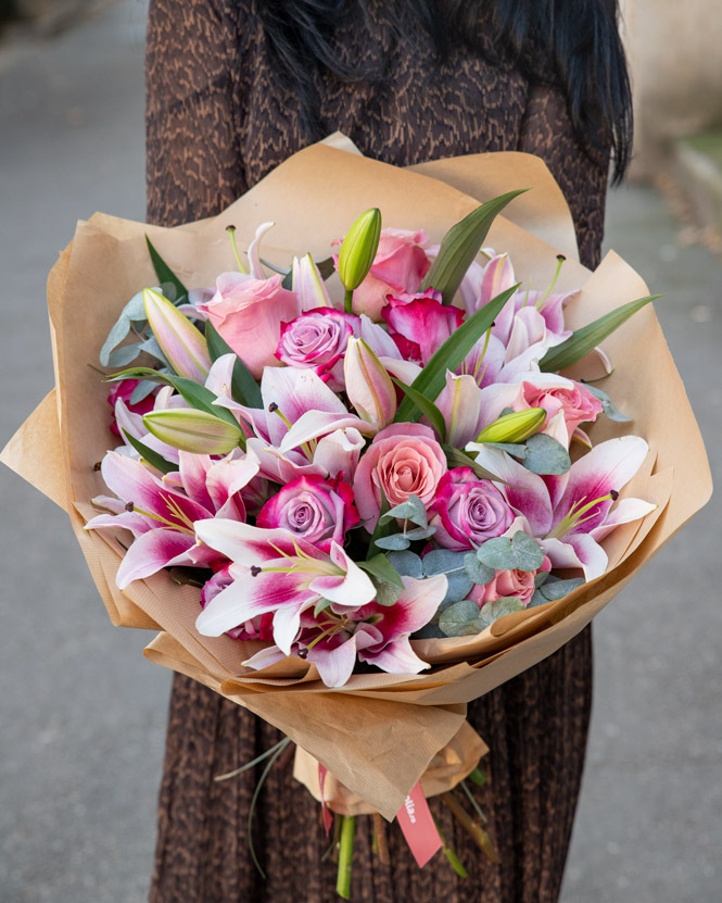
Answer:
<path fill-rule="evenodd" d="M 103 459 L 103 479 L 121 501 L 93 499 L 112 513 L 93 517 L 85 529 L 127 529 L 134 535 L 118 568 L 119 589 L 163 567 L 217 561 L 216 552 L 198 545 L 193 523 L 208 516 L 245 517 L 241 489 L 258 473 L 252 459 L 229 455 L 213 461 L 182 451 L 178 457 L 178 473 L 163 478 L 140 461 L 117 452 L 107 452 Z"/>

